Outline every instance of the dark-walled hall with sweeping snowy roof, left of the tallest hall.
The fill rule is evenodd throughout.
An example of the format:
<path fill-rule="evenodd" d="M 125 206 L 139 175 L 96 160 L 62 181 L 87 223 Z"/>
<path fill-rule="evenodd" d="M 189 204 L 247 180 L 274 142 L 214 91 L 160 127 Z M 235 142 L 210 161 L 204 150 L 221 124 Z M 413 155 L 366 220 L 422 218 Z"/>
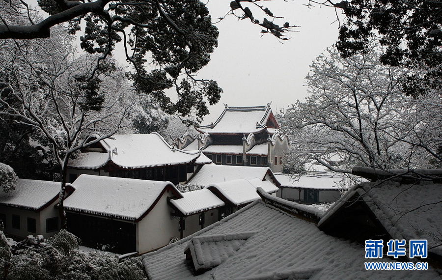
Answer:
<path fill-rule="evenodd" d="M 178 184 L 186 182 L 197 166 L 211 162 L 200 151 L 170 146 L 156 132 L 113 135 L 88 146 L 69 161 L 68 181 L 75 181 L 80 174 L 90 174 Z"/>

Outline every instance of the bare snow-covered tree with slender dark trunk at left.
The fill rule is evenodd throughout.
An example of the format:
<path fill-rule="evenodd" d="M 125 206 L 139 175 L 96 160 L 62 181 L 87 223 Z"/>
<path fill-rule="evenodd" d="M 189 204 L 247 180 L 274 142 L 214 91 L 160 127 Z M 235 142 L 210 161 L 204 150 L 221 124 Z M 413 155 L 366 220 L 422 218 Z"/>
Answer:
<path fill-rule="evenodd" d="M 64 28 L 53 37 L 0 42 L 0 117 L 31 127 L 36 142 L 50 147 L 60 170 L 60 216 L 65 227 L 63 198 L 69 157 L 81 148 L 127 126 L 135 103 L 124 73 L 114 63 L 77 56 Z M 91 73 L 95 71 L 93 78 Z M 88 141 L 100 128 L 102 136 Z"/>

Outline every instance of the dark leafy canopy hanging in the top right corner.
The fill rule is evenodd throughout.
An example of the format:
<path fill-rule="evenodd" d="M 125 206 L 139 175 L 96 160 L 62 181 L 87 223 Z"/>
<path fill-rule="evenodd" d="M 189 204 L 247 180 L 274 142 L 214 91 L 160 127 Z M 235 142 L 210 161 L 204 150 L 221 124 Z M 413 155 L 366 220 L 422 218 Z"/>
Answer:
<path fill-rule="evenodd" d="M 402 79 L 404 93 L 417 97 L 442 88 L 441 2 L 344 0 L 334 6 L 346 16 L 336 44 L 343 56 L 366 52 L 377 37 L 385 46 L 382 63 L 423 70 Z"/>

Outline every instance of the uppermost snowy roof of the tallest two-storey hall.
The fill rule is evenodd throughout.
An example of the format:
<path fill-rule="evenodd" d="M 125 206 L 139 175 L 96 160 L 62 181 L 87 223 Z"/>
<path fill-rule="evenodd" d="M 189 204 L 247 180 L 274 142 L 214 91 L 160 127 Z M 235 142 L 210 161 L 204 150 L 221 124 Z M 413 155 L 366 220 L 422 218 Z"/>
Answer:
<path fill-rule="evenodd" d="M 266 129 L 269 117 L 273 116 L 270 106 L 227 107 L 212 125 L 195 128 L 200 133 L 210 134 L 249 134 Z M 276 120 L 276 126 L 279 127 Z"/>

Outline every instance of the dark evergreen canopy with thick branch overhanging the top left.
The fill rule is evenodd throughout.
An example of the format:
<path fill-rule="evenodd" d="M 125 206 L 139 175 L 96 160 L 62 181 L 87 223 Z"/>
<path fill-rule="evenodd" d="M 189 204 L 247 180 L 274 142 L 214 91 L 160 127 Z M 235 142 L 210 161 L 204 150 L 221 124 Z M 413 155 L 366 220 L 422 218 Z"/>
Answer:
<path fill-rule="evenodd" d="M 165 112 L 202 117 L 208 113 L 206 103 L 213 105 L 220 99 L 222 90 L 215 81 L 195 77 L 218 44 L 218 30 L 202 2 L 39 0 L 38 4 L 49 14 L 47 18 L 36 16 L 24 1 L 1 0 L 0 39 L 53 37 L 53 27 L 61 23 L 76 34 L 84 24 L 81 47 L 100 56 L 95 69 L 83 77 L 88 83 L 93 83 L 96 71 L 122 41 L 121 48 L 135 68 L 129 75 L 135 87 L 155 96 Z M 172 86 L 177 102 L 164 92 Z"/>

